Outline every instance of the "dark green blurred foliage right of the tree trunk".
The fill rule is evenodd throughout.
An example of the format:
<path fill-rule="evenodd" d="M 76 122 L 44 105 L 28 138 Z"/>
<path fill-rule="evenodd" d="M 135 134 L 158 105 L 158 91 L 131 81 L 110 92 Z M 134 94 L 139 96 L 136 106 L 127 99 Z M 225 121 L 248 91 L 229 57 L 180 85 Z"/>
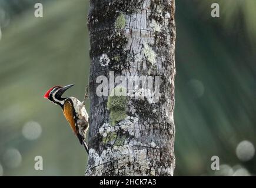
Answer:
<path fill-rule="evenodd" d="M 177 1 L 175 174 L 212 175 L 214 155 L 255 174 L 255 157 L 241 163 L 235 153 L 242 140 L 256 142 L 255 46 L 243 24 L 223 29 L 222 18 L 211 17 L 211 1 L 204 12 L 194 2 Z"/>

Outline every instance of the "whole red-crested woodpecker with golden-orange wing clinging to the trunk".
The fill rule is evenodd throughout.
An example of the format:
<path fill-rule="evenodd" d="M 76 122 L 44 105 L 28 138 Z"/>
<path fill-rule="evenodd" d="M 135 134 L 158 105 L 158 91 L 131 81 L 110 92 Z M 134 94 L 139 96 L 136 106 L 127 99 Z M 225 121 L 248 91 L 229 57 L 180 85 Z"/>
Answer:
<path fill-rule="evenodd" d="M 75 136 L 77 136 L 79 142 L 85 147 L 85 150 L 88 153 L 88 146 L 85 142 L 85 136 L 89 127 L 89 116 L 85 109 L 85 100 L 88 98 L 88 86 L 85 92 L 84 102 L 80 102 L 77 98 L 72 96 L 62 98 L 62 94 L 65 90 L 72 86 L 74 86 L 74 84 L 64 87 L 54 86 L 45 93 L 44 98 L 55 103 L 55 105 L 61 106 L 64 116 L 66 117 Z"/>

